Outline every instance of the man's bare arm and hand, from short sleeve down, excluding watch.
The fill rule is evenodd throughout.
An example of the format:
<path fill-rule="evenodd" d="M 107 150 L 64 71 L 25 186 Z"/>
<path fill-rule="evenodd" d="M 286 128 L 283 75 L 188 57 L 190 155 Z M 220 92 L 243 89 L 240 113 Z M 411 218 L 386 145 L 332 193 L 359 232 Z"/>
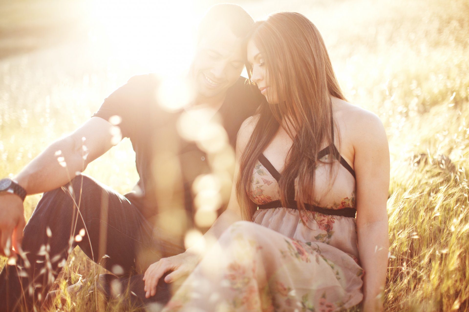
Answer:
<path fill-rule="evenodd" d="M 70 135 L 49 145 L 15 180 L 28 195 L 60 188 L 113 146 L 113 125 L 92 117 Z M 84 140 L 83 140 L 84 138 Z M 20 250 L 25 226 L 23 202 L 15 194 L 0 195 L 0 254 Z"/>

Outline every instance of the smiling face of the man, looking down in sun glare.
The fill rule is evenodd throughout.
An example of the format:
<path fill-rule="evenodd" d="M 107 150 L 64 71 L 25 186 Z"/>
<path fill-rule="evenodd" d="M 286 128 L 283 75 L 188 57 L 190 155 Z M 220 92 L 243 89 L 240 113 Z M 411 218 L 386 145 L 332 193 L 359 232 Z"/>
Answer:
<path fill-rule="evenodd" d="M 242 39 L 219 22 L 199 40 L 192 63 L 197 94 L 211 98 L 224 95 L 244 68 Z"/>

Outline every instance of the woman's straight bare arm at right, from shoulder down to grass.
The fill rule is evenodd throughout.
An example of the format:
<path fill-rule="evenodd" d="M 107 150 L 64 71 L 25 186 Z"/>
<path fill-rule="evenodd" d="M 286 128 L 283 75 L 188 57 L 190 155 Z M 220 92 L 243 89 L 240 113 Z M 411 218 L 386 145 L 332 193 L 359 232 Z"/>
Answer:
<path fill-rule="evenodd" d="M 377 116 L 361 112 L 354 127 L 356 226 L 363 276 L 363 311 L 383 310 L 388 259 L 389 147 Z"/>

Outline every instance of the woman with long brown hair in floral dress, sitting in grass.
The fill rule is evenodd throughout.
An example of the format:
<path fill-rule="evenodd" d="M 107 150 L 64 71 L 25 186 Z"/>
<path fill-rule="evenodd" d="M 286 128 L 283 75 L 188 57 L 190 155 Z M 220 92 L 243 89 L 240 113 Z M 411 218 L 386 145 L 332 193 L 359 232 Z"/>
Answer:
<path fill-rule="evenodd" d="M 382 310 L 382 123 L 345 101 L 318 29 L 301 14 L 257 23 L 247 59 L 267 101 L 238 133 L 235 189 L 209 232 L 218 236 L 239 215 L 254 222 L 223 232 L 164 311 L 332 312 L 361 302 Z M 145 273 L 148 295 L 161 272 L 174 270 L 170 282 L 198 261 L 191 250 L 172 258 Z"/>

